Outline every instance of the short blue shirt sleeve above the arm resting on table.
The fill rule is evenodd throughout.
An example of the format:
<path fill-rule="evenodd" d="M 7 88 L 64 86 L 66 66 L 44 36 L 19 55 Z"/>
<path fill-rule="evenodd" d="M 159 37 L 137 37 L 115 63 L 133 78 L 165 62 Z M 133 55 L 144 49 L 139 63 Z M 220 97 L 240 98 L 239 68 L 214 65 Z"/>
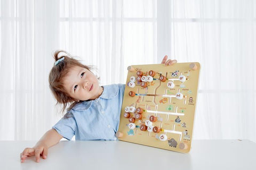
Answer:
<path fill-rule="evenodd" d="M 75 135 L 76 120 L 72 113 L 68 113 L 63 116 L 59 122 L 57 122 L 52 129 L 55 129 L 63 138 L 71 140 Z"/>

